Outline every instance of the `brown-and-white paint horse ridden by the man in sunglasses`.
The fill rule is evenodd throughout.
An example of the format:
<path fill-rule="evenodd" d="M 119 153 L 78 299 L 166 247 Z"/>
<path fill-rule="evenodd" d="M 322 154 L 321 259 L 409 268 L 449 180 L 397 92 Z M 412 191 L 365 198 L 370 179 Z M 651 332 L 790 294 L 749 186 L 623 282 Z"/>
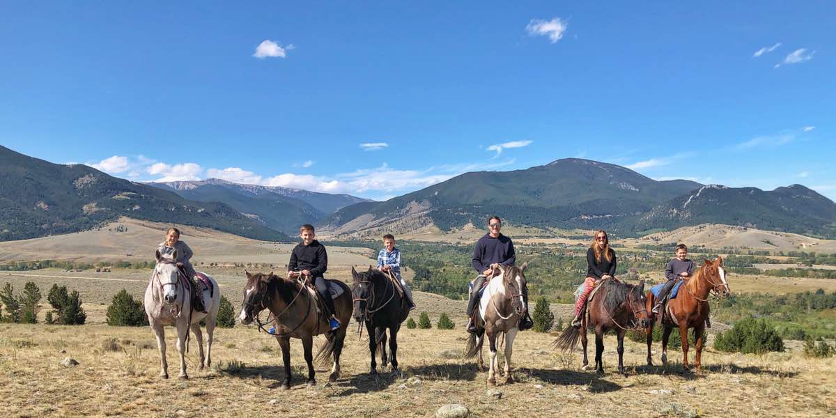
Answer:
<path fill-rule="evenodd" d="M 503 266 L 499 267 L 499 274 L 489 279 L 482 298 L 479 299 L 479 306 L 476 313 L 477 332 L 470 334 L 467 340 L 465 358 L 472 359 L 479 355 L 479 370 L 482 370 L 482 344 L 487 342 L 490 345 L 491 364 L 487 369 L 487 384 L 497 384 L 497 339 L 505 335 L 505 383 L 513 383 L 511 376 L 511 354 L 514 338 L 517 337 L 517 324 L 523 315 L 528 313 L 523 298 L 523 289 L 527 290 L 525 280 L 525 269 L 523 267 Z M 478 292 L 473 289 L 473 292 Z"/>

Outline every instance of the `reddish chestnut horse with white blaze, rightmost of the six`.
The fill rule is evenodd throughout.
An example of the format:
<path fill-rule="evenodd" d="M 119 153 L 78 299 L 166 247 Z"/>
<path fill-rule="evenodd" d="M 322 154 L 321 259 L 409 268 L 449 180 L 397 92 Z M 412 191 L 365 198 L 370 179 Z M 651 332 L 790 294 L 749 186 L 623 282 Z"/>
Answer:
<path fill-rule="evenodd" d="M 696 370 L 702 370 L 702 335 L 706 329 L 706 319 L 709 314 L 708 295 L 713 291 L 720 297 L 726 297 L 731 292 L 726 283 L 726 269 L 723 268 L 722 257 L 717 257 L 714 262 L 705 260 L 702 267 L 682 283 L 676 298 L 668 300 L 665 311 L 660 312 L 659 317 L 652 317 L 647 326 L 647 365 L 653 365 L 650 359 L 650 344 L 653 343 L 653 325 L 660 320 L 662 326 L 662 363 L 668 362 L 668 338 L 674 327 L 680 330 L 682 340 L 682 366 L 685 370 L 688 366 L 688 329 L 694 329 L 696 335 Z M 647 307 L 652 309 L 656 300 L 652 292 L 647 293 Z M 668 312 L 670 311 L 670 312 Z M 670 314 L 673 314 L 671 317 Z"/>

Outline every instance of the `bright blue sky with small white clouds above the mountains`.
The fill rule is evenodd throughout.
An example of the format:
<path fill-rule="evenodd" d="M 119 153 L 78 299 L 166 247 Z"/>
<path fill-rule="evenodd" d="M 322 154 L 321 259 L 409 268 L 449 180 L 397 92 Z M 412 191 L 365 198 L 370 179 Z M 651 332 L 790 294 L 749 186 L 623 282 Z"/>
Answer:
<path fill-rule="evenodd" d="M 0 3 L 0 144 L 385 199 L 583 157 L 836 199 L 832 2 Z"/>

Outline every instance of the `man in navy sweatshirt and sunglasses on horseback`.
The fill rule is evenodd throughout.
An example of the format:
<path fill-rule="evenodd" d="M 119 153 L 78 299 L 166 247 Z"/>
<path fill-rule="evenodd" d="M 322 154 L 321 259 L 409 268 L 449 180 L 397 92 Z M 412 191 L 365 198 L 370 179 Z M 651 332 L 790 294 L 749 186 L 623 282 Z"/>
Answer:
<path fill-rule="evenodd" d="M 499 273 L 499 265 L 512 266 L 517 261 L 514 253 L 514 243 L 511 238 L 499 233 L 502 229 L 502 220 L 499 217 L 490 217 L 487 220 L 488 233 L 479 238 L 476 242 L 476 247 L 473 248 L 473 257 L 471 266 L 479 275 L 473 283 L 473 288 L 470 293 L 470 298 L 467 301 L 467 331 L 475 333 L 477 331 L 476 325 L 473 324 L 473 313 L 477 308 L 479 301 L 479 289 L 485 280 L 493 278 Z M 523 289 L 523 300 L 528 306 L 528 292 Z M 517 329 L 520 331 L 532 328 L 533 322 L 526 314 L 525 318 L 520 319 L 517 324 Z"/>

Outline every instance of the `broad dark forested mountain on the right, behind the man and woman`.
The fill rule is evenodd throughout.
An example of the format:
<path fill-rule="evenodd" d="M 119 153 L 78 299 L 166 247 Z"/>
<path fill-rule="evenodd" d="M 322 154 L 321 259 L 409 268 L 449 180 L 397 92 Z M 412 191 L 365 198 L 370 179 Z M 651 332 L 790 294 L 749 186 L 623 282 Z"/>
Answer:
<path fill-rule="evenodd" d="M 655 181 L 599 161 L 568 158 L 517 171 L 456 176 L 404 196 L 362 202 L 324 220 L 335 233 L 442 230 L 498 215 L 533 227 L 606 228 L 624 236 L 701 223 L 836 237 L 836 204 L 805 186 L 762 191 Z"/>

